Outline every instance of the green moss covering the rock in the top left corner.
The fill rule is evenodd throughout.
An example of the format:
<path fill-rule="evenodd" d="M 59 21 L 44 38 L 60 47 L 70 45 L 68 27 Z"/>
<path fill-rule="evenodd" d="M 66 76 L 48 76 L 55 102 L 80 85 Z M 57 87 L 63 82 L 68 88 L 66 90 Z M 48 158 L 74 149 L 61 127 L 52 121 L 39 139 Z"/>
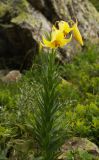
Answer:
<path fill-rule="evenodd" d="M 6 3 L 0 2 L 0 17 L 2 18 L 6 13 L 9 13 L 12 17 L 11 22 L 20 24 L 25 21 L 34 27 L 35 20 L 33 16 L 28 13 L 28 7 L 29 3 L 26 0 L 7 0 Z"/>

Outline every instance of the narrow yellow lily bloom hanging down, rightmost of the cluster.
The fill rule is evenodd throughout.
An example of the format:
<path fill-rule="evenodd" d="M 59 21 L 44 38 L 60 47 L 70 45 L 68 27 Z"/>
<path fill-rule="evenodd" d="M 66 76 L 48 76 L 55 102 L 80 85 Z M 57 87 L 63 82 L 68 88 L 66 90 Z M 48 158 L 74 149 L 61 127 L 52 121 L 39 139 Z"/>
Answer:
<path fill-rule="evenodd" d="M 78 41 L 83 46 L 83 40 L 82 40 L 82 36 L 80 34 L 80 31 L 78 29 L 77 22 L 74 23 L 74 25 L 73 25 L 73 36 L 74 36 L 75 40 Z"/>

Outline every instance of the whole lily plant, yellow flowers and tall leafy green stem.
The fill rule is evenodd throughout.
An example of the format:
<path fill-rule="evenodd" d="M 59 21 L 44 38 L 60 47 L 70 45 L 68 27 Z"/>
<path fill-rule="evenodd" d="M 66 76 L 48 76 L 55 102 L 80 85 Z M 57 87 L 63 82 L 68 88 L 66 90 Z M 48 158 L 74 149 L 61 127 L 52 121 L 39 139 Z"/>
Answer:
<path fill-rule="evenodd" d="M 35 115 L 35 139 L 39 145 L 41 160 L 57 160 L 60 147 L 64 142 L 64 129 L 61 127 L 62 119 L 59 114 L 62 104 L 59 101 L 58 85 L 60 84 L 59 67 L 55 61 L 56 49 L 64 47 L 75 38 L 83 45 L 78 23 L 70 21 L 56 22 L 50 33 L 50 39 L 42 37 L 40 47 L 50 49 L 50 54 L 39 54 L 40 72 L 39 81 L 41 89 L 38 93 L 38 110 Z M 68 35 L 69 38 L 68 38 Z M 49 52 L 48 52 L 49 53 Z"/>

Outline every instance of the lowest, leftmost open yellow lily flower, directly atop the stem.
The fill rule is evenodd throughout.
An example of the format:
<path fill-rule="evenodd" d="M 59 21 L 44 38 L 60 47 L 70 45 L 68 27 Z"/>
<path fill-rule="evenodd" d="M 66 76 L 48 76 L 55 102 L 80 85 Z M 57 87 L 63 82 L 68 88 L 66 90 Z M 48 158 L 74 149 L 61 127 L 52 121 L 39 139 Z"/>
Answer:
<path fill-rule="evenodd" d="M 42 37 L 42 39 L 43 39 L 43 45 L 45 47 L 58 48 L 58 47 L 63 47 L 64 45 L 69 43 L 72 39 L 72 35 L 70 36 L 70 38 L 66 39 L 66 38 L 64 38 L 63 32 L 61 32 L 58 29 L 55 29 L 51 33 L 51 40 L 50 41 L 45 39 L 45 37 Z"/>

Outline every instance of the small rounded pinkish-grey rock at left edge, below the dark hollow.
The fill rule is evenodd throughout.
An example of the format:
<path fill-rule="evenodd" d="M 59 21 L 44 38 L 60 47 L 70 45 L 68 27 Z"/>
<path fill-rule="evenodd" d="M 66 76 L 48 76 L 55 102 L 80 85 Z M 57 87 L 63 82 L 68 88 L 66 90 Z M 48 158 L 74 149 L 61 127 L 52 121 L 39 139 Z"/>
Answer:
<path fill-rule="evenodd" d="M 8 72 L 5 76 L 1 78 L 3 82 L 9 83 L 9 82 L 17 82 L 21 79 L 22 74 L 18 70 L 12 70 Z"/>

